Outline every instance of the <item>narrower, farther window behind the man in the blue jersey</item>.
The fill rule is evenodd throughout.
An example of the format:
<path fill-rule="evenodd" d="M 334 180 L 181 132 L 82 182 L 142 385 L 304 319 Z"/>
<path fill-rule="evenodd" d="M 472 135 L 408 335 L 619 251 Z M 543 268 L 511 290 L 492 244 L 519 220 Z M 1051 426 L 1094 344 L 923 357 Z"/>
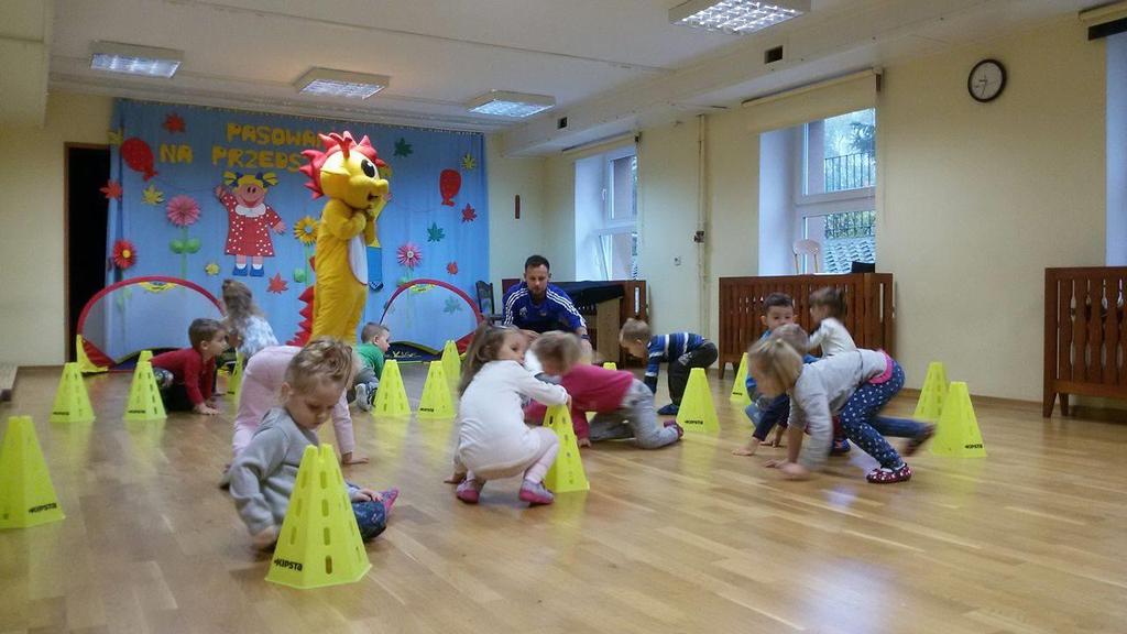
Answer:
<path fill-rule="evenodd" d="M 577 160 L 576 276 L 638 278 L 638 157 L 633 146 Z"/>

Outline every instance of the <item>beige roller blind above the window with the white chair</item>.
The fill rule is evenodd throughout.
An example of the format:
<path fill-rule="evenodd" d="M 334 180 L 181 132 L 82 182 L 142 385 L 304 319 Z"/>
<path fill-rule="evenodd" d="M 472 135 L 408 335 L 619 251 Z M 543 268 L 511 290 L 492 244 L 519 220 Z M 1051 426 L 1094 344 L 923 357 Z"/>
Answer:
<path fill-rule="evenodd" d="M 747 130 L 766 132 L 877 106 L 880 73 L 855 72 L 744 102 Z"/>

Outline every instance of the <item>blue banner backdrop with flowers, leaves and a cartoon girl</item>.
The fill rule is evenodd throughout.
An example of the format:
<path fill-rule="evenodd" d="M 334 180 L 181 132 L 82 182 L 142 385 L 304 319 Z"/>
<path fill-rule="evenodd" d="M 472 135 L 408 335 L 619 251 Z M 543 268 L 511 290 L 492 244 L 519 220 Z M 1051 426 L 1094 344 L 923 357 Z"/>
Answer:
<path fill-rule="evenodd" d="M 107 284 L 168 275 L 221 297 L 222 281 L 236 274 L 241 259 L 243 275 L 234 279 L 254 291 L 278 340 L 290 340 L 301 320 L 298 298 L 316 274 L 307 264 L 313 240 L 307 237 L 304 244 L 301 236 L 309 235 L 326 202 L 304 187 L 301 152 L 322 149 L 318 133 L 345 130 L 357 141 L 371 138 L 391 168 L 391 200 L 379 218 L 381 248 L 369 249 L 371 294 L 363 322 L 379 322 L 396 287 L 414 279 L 441 280 L 473 297 L 473 283 L 489 273 L 481 134 L 127 99 L 115 104 L 110 182 L 104 191 L 110 199 L 108 255 L 115 255 L 118 240 L 128 240 L 134 262 L 115 266 Z M 251 206 L 232 202 L 240 178 L 265 187 L 265 199 Z M 227 204 L 220 186 L 236 194 L 224 197 Z M 187 333 L 184 337 L 187 342 Z"/>

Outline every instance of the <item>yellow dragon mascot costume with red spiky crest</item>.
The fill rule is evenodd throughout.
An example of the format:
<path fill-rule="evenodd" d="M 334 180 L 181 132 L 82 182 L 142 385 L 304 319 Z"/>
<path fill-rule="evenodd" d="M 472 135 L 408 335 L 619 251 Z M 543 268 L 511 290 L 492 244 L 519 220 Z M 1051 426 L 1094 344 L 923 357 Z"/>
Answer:
<path fill-rule="evenodd" d="M 320 134 L 325 151 L 305 150 L 305 186 L 313 199 L 328 196 L 317 230 L 312 336 L 334 336 L 356 344 L 356 326 L 367 301 L 367 246 L 380 246 L 375 219 L 388 203 L 388 182 L 367 137 L 350 132 Z"/>

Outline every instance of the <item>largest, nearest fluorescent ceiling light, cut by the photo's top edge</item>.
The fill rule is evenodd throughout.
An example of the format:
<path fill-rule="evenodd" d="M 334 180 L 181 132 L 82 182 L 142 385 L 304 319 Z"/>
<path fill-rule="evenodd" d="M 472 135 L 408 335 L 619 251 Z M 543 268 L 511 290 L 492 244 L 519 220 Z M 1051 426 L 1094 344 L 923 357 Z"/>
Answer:
<path fill-rule="evenodd" d="M 810 11 L 810 0 L 690 0 L 669 9 L 669 21 L 708 30 L 744 34 Z"/>

